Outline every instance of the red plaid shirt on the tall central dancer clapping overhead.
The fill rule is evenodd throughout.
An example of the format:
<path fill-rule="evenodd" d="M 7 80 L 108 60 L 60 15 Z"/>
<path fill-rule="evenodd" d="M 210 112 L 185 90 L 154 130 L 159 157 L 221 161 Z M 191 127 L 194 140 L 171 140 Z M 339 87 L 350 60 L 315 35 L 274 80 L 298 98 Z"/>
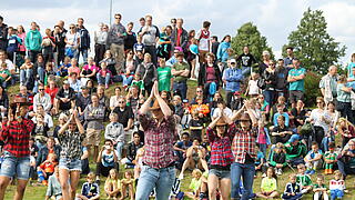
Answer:
<path fill-rule="evenodd" d="M 151 168 L 166 168 L 175 161 L 174 136 L 175 119 L 166 117 L 158 127 L 153 118 L 139 113 L 139 121 L 144 130 L 144 157 L 143 163 Z"/>

